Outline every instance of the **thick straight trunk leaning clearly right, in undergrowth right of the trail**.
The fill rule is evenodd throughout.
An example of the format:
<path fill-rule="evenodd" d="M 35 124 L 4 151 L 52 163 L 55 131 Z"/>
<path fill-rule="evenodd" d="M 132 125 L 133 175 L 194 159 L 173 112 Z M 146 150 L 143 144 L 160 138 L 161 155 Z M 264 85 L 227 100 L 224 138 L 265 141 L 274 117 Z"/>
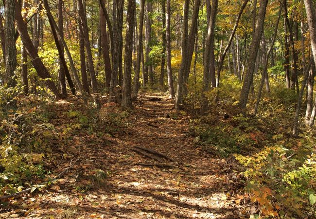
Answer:
<path fill-rule="evenodd" d="M 246 108 L 246 104 L 248 101 L 248 95 L 249 95 L 251 82 L 253 79 L 253 72 L 254 72 L 256 57 L 257 57 L 257 53 L 259 49 L 260 39 L 263 33 L 263 23 L 264 23 L 267 3 L 268 3 L 268 0 L 260 0 L 255 33 L 250 45 L 248 68 L 247 68 L 247 72 L 246 72 L 244 83 L 243 83 L 243 88 L 240 93 L 240 98 L 239 98 L 239 103 L 238 103 L 238 106 L 242 109 Z"/>

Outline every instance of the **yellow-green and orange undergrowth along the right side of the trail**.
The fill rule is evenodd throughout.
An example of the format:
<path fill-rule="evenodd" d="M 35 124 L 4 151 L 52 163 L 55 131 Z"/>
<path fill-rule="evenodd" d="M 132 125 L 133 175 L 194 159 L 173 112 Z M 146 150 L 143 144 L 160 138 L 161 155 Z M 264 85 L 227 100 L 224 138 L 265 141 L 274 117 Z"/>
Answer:
<path fill-rule="evenodd" d="M 251 217 L 316 217 L 316 133 L 301 126 L 300 134 L 292 135 L 297 94 L 284 89 L 281 78 L 271 78 L 272 92 L 264 93 L 260 114 L 251 115 L 255 99 L 250 96 L 250 113 L 244 115 L 234 107 L 239 92 L 232 89 L 241 84 L 224 77 L 221 88 L 208 93 L 209 114 L 196 117 L 196 110 L 187 108 L 195 116 L 191 120 L 195 143 L 213 155 L 233 157 L 243 169 L 250 201 L 260 206 Z M 194 108 L 199 110 L 200 95 L 192 88 L 187 103 L 196 101 Z"/>

